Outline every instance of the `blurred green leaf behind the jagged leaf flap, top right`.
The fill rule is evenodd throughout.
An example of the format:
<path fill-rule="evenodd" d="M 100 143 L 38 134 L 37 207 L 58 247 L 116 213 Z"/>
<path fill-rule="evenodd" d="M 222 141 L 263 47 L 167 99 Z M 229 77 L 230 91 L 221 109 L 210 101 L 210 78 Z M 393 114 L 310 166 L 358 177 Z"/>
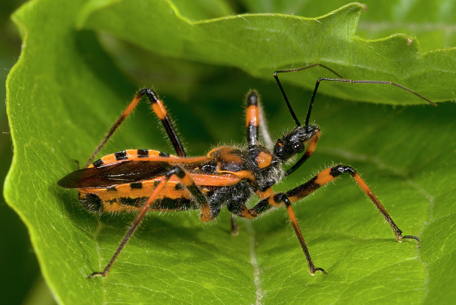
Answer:
<path fill-rule="evenodd" d="M 345 5 L 344 0 L 281 1 L 242 0 L 252 13 L 285 13 L 300 16 L 319 16 Z M 456 45 L 456 5 L 446 0 L 391 0 L 388 5 L 381 1 L 363 1 L 367 7 L 358 23 L 357 35 L 379 39 L 391 33 L 405 33 L 420 37 L 423 51 Z"/>

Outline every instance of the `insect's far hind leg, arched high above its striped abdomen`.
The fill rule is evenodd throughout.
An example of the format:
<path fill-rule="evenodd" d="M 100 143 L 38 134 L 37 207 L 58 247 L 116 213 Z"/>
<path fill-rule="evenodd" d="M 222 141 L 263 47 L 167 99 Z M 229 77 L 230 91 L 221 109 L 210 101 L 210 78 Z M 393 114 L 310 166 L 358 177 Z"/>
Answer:
<path fill-rule="evenodd" d="M 125 118 L 128 117 L 128 115 L 133 111 L 133 109 L 136 107 L 138 102 L 141 100 L 141 97 L 143 95 L 146 95 L 147 98 L 149 99 L 150 103 L 152 104 L 152 109 L 156 113 L 157 117 L 160 119 L 162 122 L 163 126 L 166 129 L 166 132 L 168 133 L 168 136 L 174 146 L 174 149 L 176 150 L 176 153 L 179 157 L 185 157 L 185 151 L 182 146 L 182 143 L 179 140 L 179 137 L 177 136 L 177 133 L 171 123 L 170 118 L 167 116 L 167 112 L 165 107 L 163 106 L 162 101 L 158 98 L 157 94 L 154 92 L 152 89 L 141 89 L 139 92 L 135 95 L 133 100 L 130 102 L 130 104 L 127 106 L 127 108 L 122 112 L 122 115 L 117 119 L 116 123 L 112 125 L 112 127 L 109 129 L 108 133 L 104 136 L 104 138 L 101 140 L 101 142 L 98 144 L 98 146 L 95 148 L 94 152 L 90 156 L 89 160 L 86 162 L 84 167 L 87 167 L 93 159 L 95 159 L 95 156 L 99 153 L 101 148 L 103 148 L 104 144 L 109 140 L 109 138 L 112 136 L 112 134 L 116 131 L 116 129 L 122 124 L 122 122 L 125 120 Z"/>

